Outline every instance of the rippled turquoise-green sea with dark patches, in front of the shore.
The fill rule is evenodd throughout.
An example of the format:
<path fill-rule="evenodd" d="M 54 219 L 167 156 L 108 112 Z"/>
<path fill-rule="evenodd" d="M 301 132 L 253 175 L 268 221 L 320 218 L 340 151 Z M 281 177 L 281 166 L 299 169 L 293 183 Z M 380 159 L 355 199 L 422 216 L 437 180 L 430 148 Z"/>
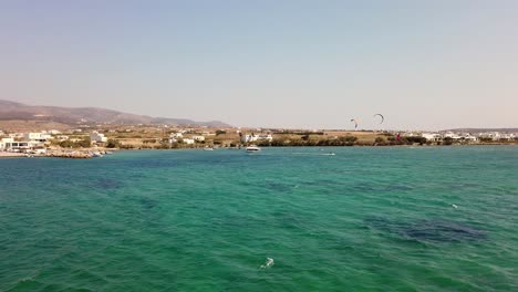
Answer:
<path fill-rule="evenodd" d="M 0 291 L 518 291 L 518 147 L 0 159 Z"/>

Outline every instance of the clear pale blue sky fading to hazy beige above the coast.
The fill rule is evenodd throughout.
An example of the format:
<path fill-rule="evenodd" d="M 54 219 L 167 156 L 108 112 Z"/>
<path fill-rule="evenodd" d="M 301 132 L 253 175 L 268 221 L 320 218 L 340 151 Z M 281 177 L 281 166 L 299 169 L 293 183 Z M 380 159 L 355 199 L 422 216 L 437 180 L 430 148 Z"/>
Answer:
<path fill-rule="evenodd" d="M 252 127 L 518 127 L 517 15 L 515 0 L 0 1 L 0 100 Z"/>

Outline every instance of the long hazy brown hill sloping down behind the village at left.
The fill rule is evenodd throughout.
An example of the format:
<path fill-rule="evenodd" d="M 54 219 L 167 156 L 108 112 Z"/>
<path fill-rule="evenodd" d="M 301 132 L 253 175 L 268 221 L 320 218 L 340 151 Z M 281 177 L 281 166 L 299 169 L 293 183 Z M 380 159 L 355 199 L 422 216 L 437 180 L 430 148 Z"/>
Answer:
<path fill-rule="evenodd" d="M 152 117 L 97 107 L 33 106 L 0 100 L 0 121 L 48 121 L 76 124 L 168 124 L 178 126 L 230 127 L 219 122 L 195 122 L 186 118 Z"/>

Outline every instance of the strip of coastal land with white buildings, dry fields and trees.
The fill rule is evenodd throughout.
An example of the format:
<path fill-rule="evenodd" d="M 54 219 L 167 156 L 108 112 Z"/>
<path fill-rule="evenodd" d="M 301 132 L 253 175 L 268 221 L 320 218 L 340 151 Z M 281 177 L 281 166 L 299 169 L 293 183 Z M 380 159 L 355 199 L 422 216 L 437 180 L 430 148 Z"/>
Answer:
<path fill-rule="evenodd" d="M 518 144 L 518 133 L 304 131 L 170 125 L 84 126 L 70 131 L 0 129 L 0 156 L 90 158 L 113 149 L 239 148 L 259 146 L 397 146 Z"/>

